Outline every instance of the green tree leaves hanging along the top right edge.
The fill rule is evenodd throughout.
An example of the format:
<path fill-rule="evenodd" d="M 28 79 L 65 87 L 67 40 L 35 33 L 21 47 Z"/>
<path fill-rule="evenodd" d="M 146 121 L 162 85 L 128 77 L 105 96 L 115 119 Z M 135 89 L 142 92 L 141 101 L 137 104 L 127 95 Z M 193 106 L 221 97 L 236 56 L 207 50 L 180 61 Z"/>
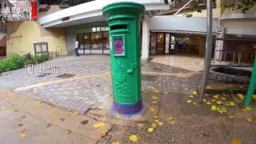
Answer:
<path fill-rule="evenodd" d="M 168 0 L 163 0 L 168 4 Z M 170 0 L 170 2 L 185 2 L 187 0 Z M 205 0 L 206 3 L 206 0 Z M 216 0 L 213 0 L 213 3 L 216 3 Z M 194 0 L 191 4 L 190 11 L 197 10 L 198 12 L 202 11 L 202 8 L 198 6 L 199 0 Z M 228 10 L 241 10 L 242 13 L 246 13 L 250 8 L 256 5 L 256 0 L 222 0 L 222 6 Z"/>

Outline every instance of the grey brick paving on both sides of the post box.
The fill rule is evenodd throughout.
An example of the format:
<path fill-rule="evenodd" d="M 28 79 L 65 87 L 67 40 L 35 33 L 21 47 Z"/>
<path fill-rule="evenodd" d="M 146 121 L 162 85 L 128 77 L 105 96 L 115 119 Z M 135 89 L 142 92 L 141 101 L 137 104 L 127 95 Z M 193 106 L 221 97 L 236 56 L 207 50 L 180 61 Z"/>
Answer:
<path fill-rule="evenodd" d="M 170 93 L 190 93 L 198 86 L 198 74 L 185 78 L 165 75 L 186 74 L 190 70 L 154 62 L 142 63 L 142 71 L 151 72 L 150 74 L 142 73 L 142 91 L 156 89 Z M 40 78 L 37 73 L 39 66 L 46 68 L 59 66 L 61 73 Z M 61 74 L 72 74 L 73 77 L 67 81 L 67 78 L 57 77 Z M 43 102 L 51 102 L 66 109 L 78 110 L 82 114 L 90 108 L 100 106 L 106 98 L 112 95 L 111 84 L 108 55 L 56 58 L 34 66 L 34 76 L 28 76 L 26 69 L 20 69 L 4 73 L 0 77 L 0 89 L 17 90 L 17 88 L 23 87 L 24 89 L 17 92 L 30 98 L 40 99 Z M 35 85 L 35 87 L 26 87 L 31 85 Z"/>

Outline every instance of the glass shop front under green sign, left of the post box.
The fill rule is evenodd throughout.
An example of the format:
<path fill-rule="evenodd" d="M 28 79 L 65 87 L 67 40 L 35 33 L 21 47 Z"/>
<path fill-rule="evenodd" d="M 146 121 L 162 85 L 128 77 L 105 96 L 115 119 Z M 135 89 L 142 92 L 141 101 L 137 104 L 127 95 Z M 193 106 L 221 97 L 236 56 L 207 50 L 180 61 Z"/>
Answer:
<path fill-rule="evenodd" d="M 108 26 L 78 29 L 77 40 L 79 54 L 110 54 Z"/>

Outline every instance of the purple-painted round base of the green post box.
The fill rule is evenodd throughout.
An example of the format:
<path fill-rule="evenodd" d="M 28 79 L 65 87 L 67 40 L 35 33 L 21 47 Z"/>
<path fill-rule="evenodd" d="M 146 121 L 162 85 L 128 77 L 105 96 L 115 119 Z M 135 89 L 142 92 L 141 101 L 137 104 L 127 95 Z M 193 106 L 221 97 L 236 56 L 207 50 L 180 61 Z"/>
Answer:
<path fill-rule="evenodd" d="M 132 105 L 124 105 L 118 102 L 114 102 L 112 110 L 118 114 L 137 114 L 142 110 L 142 101 Z"/>

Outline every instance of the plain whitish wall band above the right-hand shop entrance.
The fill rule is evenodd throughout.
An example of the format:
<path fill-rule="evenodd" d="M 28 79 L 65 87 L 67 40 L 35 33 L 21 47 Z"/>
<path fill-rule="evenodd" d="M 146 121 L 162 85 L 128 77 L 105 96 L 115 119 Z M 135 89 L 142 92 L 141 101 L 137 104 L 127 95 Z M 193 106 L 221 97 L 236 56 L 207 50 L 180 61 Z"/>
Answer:
<path fill-rule="evenodd" d="M 213 20 L 213 31 L 218 26 L 218 19 Z M 156 16 L 149 19 L 150 30 L 178 30 L 206 33 L 206 18 L 186 18 Z"/>

